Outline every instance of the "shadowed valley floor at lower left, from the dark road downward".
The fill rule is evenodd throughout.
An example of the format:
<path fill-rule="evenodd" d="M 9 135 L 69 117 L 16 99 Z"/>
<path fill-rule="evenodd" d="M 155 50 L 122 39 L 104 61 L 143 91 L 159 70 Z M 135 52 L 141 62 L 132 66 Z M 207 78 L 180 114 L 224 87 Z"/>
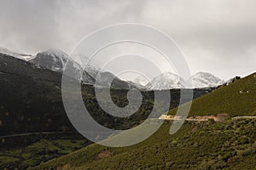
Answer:
<path fill-rule="evenodd" d="M 13 144 L 13 140 L 20 144 Z M 55 157 L 66 155 L 79 150 L 90 142 L 79 134 L 48 134 L 27 135 L 24 137 L 12 137 L 0 139 L 0 169 L 26 169 L 34 167 L 43 161 L 49 161 Z M 32 142 L 35 141 L 35 142 Z M 3 144 L 3 143 L 10 143 Z"/>

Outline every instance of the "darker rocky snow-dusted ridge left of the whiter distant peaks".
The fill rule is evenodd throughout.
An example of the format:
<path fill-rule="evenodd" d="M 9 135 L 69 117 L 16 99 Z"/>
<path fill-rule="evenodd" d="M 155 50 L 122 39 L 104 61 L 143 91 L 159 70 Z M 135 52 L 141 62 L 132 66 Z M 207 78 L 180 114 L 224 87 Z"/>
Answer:
<path fill-rule="evenodd" d="M 108 71 L 100 71 L 93 67 L 92 65 L 86 65 L 84 70 L 81 65 L 71 59 L 67 54 L 62 52 L 59 49 L 49 49 L 42 53 L 38 53 L 34 59 L 28 60 L 29 62 L 47 68 L 51 71 L 63 72 L 65 69 L 65 65 L 67 64 L 67 60 L 69 60 L 69 69 L 71 71 L 80 73 L 83 71 L 83 76 L 81 81 L 85 84 L 102 86 L 102 87 L 113 87 L 113 88 L 132 88 L 129 82 L 125 82 L 119 79 L 119 77 L 114 76 L 112 73 Z M 80 78 L 79 74 L 77 74 Z M 96 77 L 98 77 L 98 81 L 96 82 Z M 113 80 L 113 81 L 112 81 Z"/>

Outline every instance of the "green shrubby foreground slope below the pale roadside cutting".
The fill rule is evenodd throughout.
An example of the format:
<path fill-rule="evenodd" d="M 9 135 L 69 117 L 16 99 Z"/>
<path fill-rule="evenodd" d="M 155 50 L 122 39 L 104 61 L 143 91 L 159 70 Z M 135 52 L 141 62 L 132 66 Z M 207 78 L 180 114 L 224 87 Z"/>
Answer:
<path fill-rule="evenodd" d="M 168 133 L 170 123 L 166 123 L 143 143 L 125 148 L 91 144 L 34 169 L 252 169 L 256 166 L 255 123 L 186 122 L 174 135 Z M 100 159 L 106 150 L 111 156 Z"/>

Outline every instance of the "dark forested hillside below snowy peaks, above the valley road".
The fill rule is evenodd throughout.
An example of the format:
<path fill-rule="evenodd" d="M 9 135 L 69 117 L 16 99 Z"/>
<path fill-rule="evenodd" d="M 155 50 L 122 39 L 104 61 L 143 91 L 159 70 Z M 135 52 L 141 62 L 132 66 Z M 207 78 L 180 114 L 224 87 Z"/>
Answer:
<path fill-rule="evenodd" d="M 61 99 L 61 74 L 24 60 L 0 54 L 1 134 L 74 130 Z M 196 89 L 195 98 L 212 91 Z M 154 105 L 154 92 L 142 92 L 143 105 L 129 118 L 109 116 L 97 105 L 94 87 L 83 85 L 84 105 L 96 121 L 107 127 L 125 129 L 147 118 Z M 112 91 L 116 105 L 127 105 L 127 89 Z M 171 108 L 178 105 L 179 90 L 171 90 Z"/>

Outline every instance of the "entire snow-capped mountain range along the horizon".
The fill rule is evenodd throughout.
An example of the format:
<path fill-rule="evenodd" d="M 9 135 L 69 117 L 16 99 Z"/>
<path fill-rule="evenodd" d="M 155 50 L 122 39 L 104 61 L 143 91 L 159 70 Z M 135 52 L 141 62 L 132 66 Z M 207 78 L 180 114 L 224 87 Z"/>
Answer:
<path fill-rule="evenodd" d="M 7 48 L 0 48 L 0 53 L 9 54 L 19 59 L 27 60 L 35 65 L 43 68 L 47 68 L 51 71 L 63 72 L 64 67 L 69 59 L 74 71 L 82 71 L 81 66 L 71 59 L 67 54 L 59 49 L 49 49 L 47 51 L 36 54 L 35 56 L 28 54 L 18 54 L 11 52 Z M 82 82 L 85 84 L 95 85 L 96 77 L 98 76 L 99 81 L 97 86 L 111 86 L 113 88 L 139 88 L 142 90 L 165 90 L 172 88 L 212 88 L 221 85 L 228 85 L 229 81 L 221 80 L 218 77 L 213 76 L 211 73 L 198 72 L 195 75 L 189 77 L 188 80 L 184 80 L 182 77 L 178 77 L 176 74 L 166 72 L 150 82 L 145 82 L 145 79 L 137 77 L 132 82 L 125 82 L 119 77 L 116 77 L 111 72 L 100 71 L 93 65 L 86 65 L 83 71 Z M 79 77 L 77 77 L 79 78 Z M 112 80 L 114 80 L 112 82 Z M 188 85 L 191 82 L 191 85 Z M 146 84 L 146 85 L 145 85 Z"/>

